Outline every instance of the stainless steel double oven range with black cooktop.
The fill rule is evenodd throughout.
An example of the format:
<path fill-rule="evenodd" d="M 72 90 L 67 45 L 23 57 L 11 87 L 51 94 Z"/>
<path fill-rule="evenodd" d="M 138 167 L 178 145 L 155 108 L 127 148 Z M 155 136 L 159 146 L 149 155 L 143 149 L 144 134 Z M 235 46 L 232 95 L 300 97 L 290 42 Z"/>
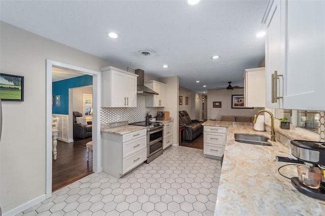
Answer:
<path fill-rule="evenodd" d="M 163 154 L 163 136 L 164 123 L 160 122 L 135 122 L 129 125 L 138 125 L 147 127 L 147 161 L 150 163 L 157 157 Z"/>

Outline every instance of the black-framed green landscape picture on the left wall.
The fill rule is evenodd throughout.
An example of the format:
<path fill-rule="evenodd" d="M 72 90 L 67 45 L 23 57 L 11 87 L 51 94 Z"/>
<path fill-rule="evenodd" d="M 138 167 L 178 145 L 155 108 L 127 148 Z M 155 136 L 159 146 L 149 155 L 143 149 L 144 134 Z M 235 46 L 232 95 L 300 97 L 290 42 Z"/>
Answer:
<path fill-rule="evenodd" d="M 24 101 L 24 77 L 0 74 L 0 96 L 2 100 Z"/>

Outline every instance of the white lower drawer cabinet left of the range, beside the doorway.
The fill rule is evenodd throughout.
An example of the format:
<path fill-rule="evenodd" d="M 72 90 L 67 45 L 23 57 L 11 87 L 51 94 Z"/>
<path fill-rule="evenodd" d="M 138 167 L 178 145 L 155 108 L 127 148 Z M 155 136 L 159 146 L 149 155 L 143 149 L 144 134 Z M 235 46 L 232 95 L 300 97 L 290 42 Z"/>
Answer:
<path fill-rule="evenodd" d="M 103 171 L 121 177 L 147 160 L 147 130 L 123 135 L 102 132 Z"/>

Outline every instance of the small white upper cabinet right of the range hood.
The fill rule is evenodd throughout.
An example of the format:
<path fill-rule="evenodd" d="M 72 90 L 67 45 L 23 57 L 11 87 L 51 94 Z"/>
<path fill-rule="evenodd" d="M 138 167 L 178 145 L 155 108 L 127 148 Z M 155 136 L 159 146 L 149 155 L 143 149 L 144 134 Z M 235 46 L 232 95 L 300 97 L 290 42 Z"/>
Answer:
<path fill-rule="evenodd" d="M 158 95 L 146 95 L 146 106 L 165 106 L 165 83 L 160 83 L 155 80 L 149 80 L 146 82 L 145 86 L 158 93 Z"/>

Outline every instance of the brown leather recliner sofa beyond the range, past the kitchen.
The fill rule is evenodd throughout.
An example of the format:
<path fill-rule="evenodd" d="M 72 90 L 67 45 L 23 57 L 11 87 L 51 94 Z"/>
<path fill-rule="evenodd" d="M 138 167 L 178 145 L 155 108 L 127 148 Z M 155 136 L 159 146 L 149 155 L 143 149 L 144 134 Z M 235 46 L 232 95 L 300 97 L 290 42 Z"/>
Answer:
<path fill-rule="evenodd" d="M 185 140 L 191 141 L 203 132 L 203 121 L 191 120 L 186 111 L 178 112 L 179 125 L 185 125 Z"/>

